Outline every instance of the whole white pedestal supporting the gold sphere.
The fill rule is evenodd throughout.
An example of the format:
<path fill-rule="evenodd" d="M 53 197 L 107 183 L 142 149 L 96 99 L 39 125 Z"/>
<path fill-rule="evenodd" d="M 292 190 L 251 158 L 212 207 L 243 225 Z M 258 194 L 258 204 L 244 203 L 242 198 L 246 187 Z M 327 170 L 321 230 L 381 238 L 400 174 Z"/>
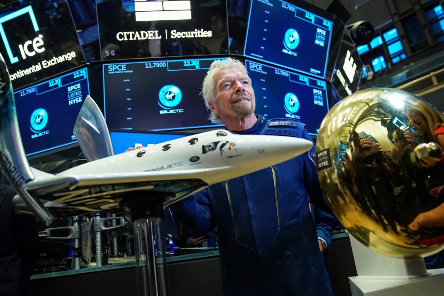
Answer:
<path fill-rule="evenodd" d="M 350 277 L 353 296 L 441 296 L 444 268 L 427 270 L 422 257 L 399 259 L 379 254 L 350 235 L 358 276 Z"/>

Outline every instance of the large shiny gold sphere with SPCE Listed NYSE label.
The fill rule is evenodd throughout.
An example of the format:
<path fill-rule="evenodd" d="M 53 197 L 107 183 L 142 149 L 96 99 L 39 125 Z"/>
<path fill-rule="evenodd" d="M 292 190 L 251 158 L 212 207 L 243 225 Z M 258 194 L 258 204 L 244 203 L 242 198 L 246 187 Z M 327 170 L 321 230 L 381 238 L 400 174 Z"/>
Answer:
<path fill-rule="evenodd" d="M 408 228 L 444 202 L 444 194 L 430 195 L 444 185 L 442 150 L 411 123 L 409 110 L 443 118 L 406 91 L 364 89 L 333 106 L 316 140 L 319 180 L 338 220 L 371 250 L 397 258 L 444 249 L 444 227 Z"/>

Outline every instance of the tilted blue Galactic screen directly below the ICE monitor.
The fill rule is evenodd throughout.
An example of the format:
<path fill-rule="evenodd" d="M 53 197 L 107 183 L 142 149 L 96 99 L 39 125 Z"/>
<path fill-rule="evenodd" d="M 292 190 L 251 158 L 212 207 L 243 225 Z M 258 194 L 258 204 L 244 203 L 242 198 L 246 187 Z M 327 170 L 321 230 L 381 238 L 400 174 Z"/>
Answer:
<path fill-rule="evenodd" d="M 74 124 L 89 94 L 87 68 L 14 92 L 27 156 L 76 143 Z"/>

